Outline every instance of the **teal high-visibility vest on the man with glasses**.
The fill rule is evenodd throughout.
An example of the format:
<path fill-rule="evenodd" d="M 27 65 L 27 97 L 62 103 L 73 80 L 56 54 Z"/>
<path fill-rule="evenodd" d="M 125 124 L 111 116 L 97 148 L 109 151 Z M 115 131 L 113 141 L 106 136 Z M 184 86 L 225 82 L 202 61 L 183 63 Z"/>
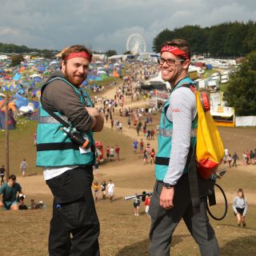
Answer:
<path fill-rule="evenodd" d="M 184 78 L 180 82 L 178 82 L 177 86 L 174 87 L 174 90 L 177 90 L 184 84 L 194 84 L 194 82 L 190 78 Z M 172 90 L 172 92 L 174 91 Z M 173 134 L 173 122 L 170 122 L 166 118 L 166 111 L 170 105 L 170 102 L 167 101 L 163 106 L 160 124 L 159 124 L 159 133 L 158 133 L 158 153 L 155 158 L 155 177 L 158 181 L 163 181 L 166 172 L 169 166 L 170 161 L 170 151 L 171 151 L 171 141 Z M 197 136 L 197 127 L 198 127 L 198 118 L 197 116 L 194 118 L 191 127 L 191 139 L 190 145 L 195 146 L 196 144 L 196 136 Z M 188 172 L 187 166 L 185 166 L 184 173 Z"/>

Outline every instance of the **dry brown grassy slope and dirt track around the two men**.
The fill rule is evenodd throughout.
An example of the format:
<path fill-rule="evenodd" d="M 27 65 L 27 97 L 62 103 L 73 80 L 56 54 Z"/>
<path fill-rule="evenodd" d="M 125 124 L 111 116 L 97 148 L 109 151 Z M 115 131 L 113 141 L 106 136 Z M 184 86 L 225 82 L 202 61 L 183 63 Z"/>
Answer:
<path fill-rule="evenodd" d="M 125 124 L 125 122 L 123 122 Z M 30 198 L 43 200 L 46 210 L 27 211 L 0 211 L 0 227 L 5 234 L 6 242 L 2 244 L 2 256 L 42 256 L 47 254 L 47 240 L 49 222 L 51 217 L 52 196 L 47 190 L 42 175 L 33 175 L 21 178 L 19 170 L 22 158 L 26 158 L 29 166 L 28 174 L 42 174 L 42 169 L 35 167 L 36 149 L 33 146 L 33 134 L 37 122 L 27 121 L 22 118 L 18 122 L 16 130 L 10 130 L 10 172 L 18 174 L 18 182 L 21 182 L 26 192 L 26 203 Z M 126 126 L 126 124 L 124 125 Z M 133 128 L 130 128 L 133 129 Z M 224 144 L 230 152 L 238 151 L 239 157 L 243 150 L 254 148 L 256 129 L 254 128 L 230 128 L 219 129 Z M 132 139 L 116 130 L 104 128 L 102 133 L 95 134 L 95 138 L 106 146 L 118 144 L 121 148 L 121 161 L 106 162 L 99 169 L 99 179 L 114 179 L 116 186 L 114 202 L 99 200 L 96 204 L 98 217 L 101 222 L 100 246 L 102 256 L 146 256 L 149 246 L 148 232 L 150 218 L 140 208 L 140 216 L 134 217 L 131 202 L 125 202 L 123 196 L 151 190 L 154 185 L 154 166 L 143 165 L 142 154 L 134 154 Z M 0 165 L 4 164 L 4 132 L 0 132 Z M 256 168 L 255 166 L 242 166 L 238 162 L 237 168 L 221 166 L 227 170 L 226 175 L 218 180 L 218 184 L 226 192 L 229 209 L 226 218 L 221 222 L 210 219 L 218 237 L 218 242 L 224 256 L 254 256 L 256 255 Z M 33 189 L 30 190 L 30 186 Z M 239 187 L 245 191 L 249 202 L 248 216 L 246 216 L 246 229 L 238 228 L 231 208 L 232 200 Z M 211 210 L 214 214 L 222 214 L 223 201 L 217 191 L 218 206 Z M 10 250 L 10 248 L 12 248 Z M 175 230 L 172 255 L 190 256 L 200 255 L 198 246 L 191 238 L 186 226 L 180 223 Z"/>

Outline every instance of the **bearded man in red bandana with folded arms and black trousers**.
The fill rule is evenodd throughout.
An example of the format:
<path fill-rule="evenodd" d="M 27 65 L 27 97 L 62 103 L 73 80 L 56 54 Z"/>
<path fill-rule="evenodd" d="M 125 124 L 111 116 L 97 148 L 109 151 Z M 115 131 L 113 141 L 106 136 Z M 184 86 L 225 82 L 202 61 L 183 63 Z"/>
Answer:
<path fill-rule="evenodd" d="M 94 131 L 104 119 L 80 89 L 92 54 L 85 46 L 61 53 L 61 70 L 42 86 L 37 130 L 37 166 L 54 195 L 50 221 L 50 256 L 98 256 L 99 222 L 91 192 L 95 164 Z M 54 118 L 64 120 L 68 127 Z M 79 134 L 84 144 L 70 136 Z"/>

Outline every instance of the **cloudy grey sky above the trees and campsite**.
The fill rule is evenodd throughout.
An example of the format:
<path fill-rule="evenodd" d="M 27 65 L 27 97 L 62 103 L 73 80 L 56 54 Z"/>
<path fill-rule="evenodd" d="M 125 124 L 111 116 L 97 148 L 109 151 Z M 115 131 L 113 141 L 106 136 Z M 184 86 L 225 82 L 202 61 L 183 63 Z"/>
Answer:
<path fill-rule="evenodd" d="M 185 25 L 256 20 L 255 0 L 0 0 L 0 42 L 62 50 L 126 50 L 132 33 L 147 50 L 158 33 Z"/>

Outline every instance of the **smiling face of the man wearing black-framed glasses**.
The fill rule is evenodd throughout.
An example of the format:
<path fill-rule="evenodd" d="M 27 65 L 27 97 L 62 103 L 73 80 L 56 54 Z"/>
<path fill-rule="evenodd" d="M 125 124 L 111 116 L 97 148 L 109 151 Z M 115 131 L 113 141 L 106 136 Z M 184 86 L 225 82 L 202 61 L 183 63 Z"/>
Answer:
<path fill-rule="evenodd" d="M 170 82 L 171 85 L 176 85 L 179 80 L 186 78 L 189 65 L 189 59 L 181 61 L 181 58 L 170 52 L 162 52 L 160 59 L 162 79 Z"/>

